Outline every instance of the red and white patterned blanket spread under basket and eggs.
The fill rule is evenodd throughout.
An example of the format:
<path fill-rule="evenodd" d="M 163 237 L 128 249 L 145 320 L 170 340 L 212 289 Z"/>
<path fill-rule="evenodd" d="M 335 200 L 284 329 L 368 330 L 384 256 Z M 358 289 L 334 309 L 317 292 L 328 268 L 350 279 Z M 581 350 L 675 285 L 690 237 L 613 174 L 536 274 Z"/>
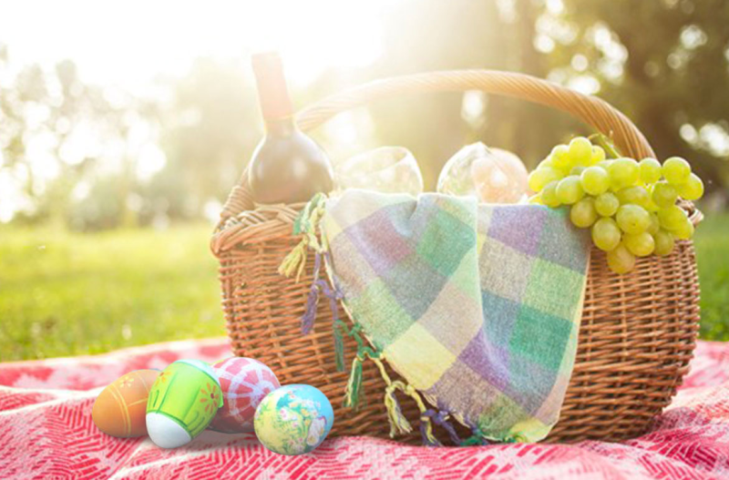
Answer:
<path fill-rule="evenodd" d="M 692 372 L 651 433 L 622 444 L 413 447 L 364 437 L 272 454 L 252 434 L 200 434 L 177 450 L 91 422 L 100 387 L 179 358 L 214 362 L 222 339 L 0 364 L 0 478 L 729 478 L 729 343 L 700 342 Z"/>

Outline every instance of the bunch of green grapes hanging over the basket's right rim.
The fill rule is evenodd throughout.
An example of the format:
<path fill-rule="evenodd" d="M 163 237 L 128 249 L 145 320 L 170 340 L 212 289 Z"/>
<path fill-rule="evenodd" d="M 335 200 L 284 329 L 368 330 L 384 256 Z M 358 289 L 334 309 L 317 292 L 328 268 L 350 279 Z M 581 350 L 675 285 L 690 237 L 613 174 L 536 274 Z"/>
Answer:
<path fill-rule="evenodd" d="M 558 145 L 529 174 L 530 201 L 551 208 L 570 206 L 570 220 L 590 229 L 608 253 L 611 271 L 626 273 L 635 257 L 668 255 L 676 239 L 693 237 L 693 223 L 676 205 L 700 199 L 703 182 L 683 158 L 606 159 L 588 138 Z"/>

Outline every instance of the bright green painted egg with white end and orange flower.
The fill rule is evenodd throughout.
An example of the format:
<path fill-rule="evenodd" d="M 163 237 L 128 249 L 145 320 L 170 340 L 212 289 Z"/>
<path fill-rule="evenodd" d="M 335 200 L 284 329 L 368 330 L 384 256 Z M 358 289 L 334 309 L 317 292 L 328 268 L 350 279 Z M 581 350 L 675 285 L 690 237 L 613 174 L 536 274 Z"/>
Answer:
<path fill-rule="evenodd" d="M 221 406 L 221 384 L 208 363 L 171 363 L 149 391 L 149 438 L 162 448 L 187 444 L 207 428 Z"/>

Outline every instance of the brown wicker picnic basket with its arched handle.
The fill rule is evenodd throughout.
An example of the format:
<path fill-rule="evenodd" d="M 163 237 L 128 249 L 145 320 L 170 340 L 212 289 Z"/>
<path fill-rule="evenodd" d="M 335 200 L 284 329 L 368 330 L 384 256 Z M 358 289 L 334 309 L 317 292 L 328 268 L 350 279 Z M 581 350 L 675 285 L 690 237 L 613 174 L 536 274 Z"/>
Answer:
<path fill-rule="evenodd" d="M 525 75 L 464 70 L 392 77 L 325 98 L 298 115 L 311 130 L 345 110 L 384 97 L 416 93 L 482 90 L 553 107 L 613 138 L 632 158 L 654 157 L 631 120 L 596 97 Z M 299 242 L 293 221 L 302 205 L 253 205 L 246 176 L 233 187 L 210 246 L 221 263 L 222 306 L 234 352 L 268 364 L 281 383 L 309 383 L 334 405 L 334 435 L 388 437 L 385 383 L 374 363 L 364 363 L 364 406 L 342 405 L 347 373 L 334 361 L 332 311 L 319 305 L 311 333 L 301 332 L 311 262 L 300 282 L 277 273 Z M 686 202 L 694 224 L 702 215 Z M 574 373 L 560 422 L 547 441 L 617 441 L 644 433 L 681 384 L 692 358 L 699 321 L 699 283 L 691 241 L 679 241 L 673 254 L 638 260 L 630 274 L 608 270 L 605 255 L 591 251 L 584 312 Z M 345 364 L 356 352 L 345 339 Z M 388 371 L 391 376 L 396 376 Z M 404 399 L 406 417 L 417 424 L 419 410 Z M 445 436 L 445 435 L 440 435 Z M 417 433 L 404 440 L 416 442 Z"/>

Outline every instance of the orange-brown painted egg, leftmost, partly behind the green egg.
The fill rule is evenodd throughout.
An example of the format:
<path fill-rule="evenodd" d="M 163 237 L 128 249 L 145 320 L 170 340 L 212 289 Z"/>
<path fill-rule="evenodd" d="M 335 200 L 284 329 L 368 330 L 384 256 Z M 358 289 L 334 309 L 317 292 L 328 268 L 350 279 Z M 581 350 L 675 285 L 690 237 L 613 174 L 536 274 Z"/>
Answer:
<path fill-rule="evenodd" d="M 159 370 L 136 370 L 102 390 L 91 410 L 98 429 L 122 438 L 147 434 L 147 399 L 158 376 Z"/>

